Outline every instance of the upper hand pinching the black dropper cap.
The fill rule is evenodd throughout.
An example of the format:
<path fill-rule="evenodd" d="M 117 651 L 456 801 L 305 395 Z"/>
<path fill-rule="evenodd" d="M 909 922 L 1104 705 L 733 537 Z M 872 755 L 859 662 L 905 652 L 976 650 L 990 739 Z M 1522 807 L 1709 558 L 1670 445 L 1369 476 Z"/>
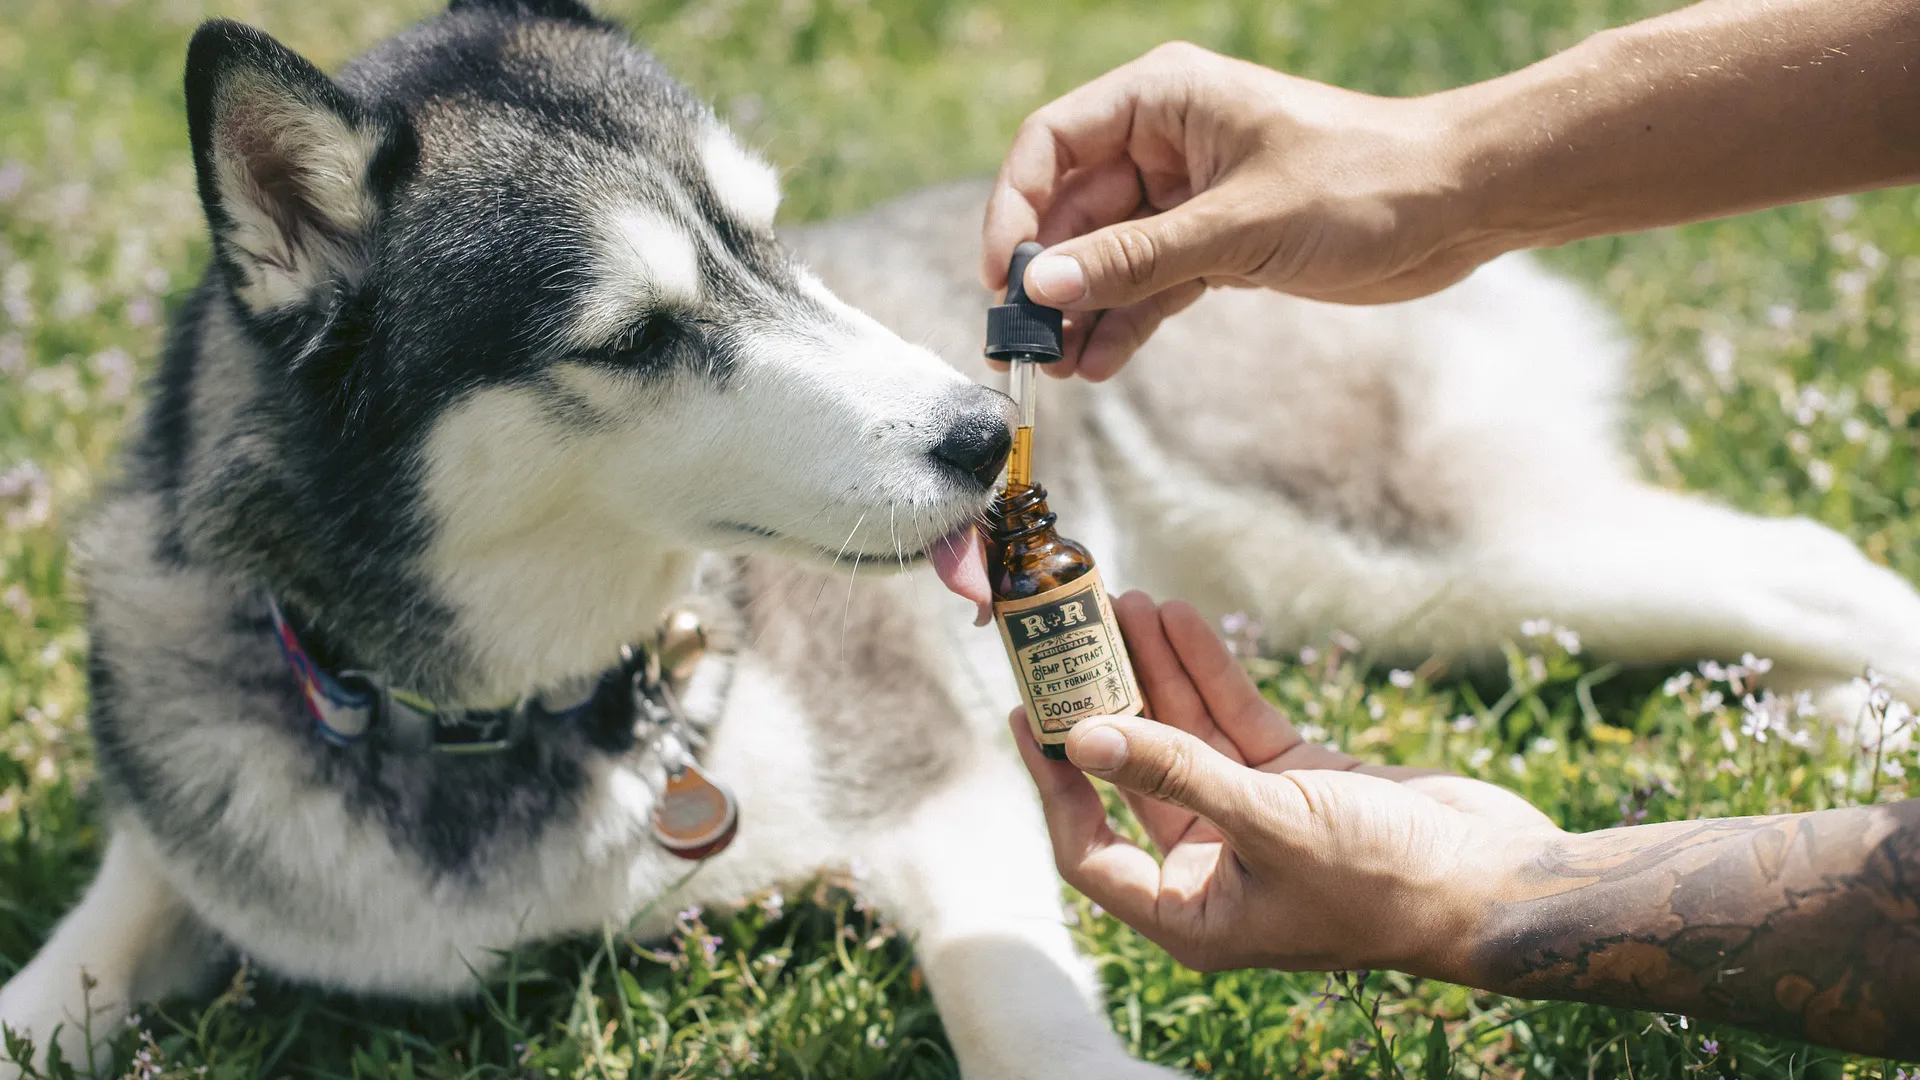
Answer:
<path fill-rule="evenodd" d="M 987 204 L 981 279 L 1048 252 L 1027 292 L 1068 309 L 1066 377 L 1106 379 L 1210 284 L 1379 304 L 1492 258 L 1452 233 L 1444 98 L 1375 98 L 1165 44 L 1041 108 Z"/>

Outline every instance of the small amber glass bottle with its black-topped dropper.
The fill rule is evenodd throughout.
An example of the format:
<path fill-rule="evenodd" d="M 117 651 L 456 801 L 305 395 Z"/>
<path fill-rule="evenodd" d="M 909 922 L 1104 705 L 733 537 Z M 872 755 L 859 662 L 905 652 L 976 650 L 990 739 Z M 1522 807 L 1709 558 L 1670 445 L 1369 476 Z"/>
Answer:
<path fill-rule="evenodd" d="M 1033 738 L 1046 757 L 1066 759 L 1075 723 L 1135 715 L 1144 700 L 1092 555 L 1054 528 L 1046 488 L 1033 482 L 1033 367 L 1060 359 L 1060 311 L 1027 300 L 1021 284 L 1039 252 L 1014 250 L 1006 304 L 987 319 L 987 356 L 1012 365 L 1020 405 L 1006 488 L 987 521 L 987 582 Z"/>

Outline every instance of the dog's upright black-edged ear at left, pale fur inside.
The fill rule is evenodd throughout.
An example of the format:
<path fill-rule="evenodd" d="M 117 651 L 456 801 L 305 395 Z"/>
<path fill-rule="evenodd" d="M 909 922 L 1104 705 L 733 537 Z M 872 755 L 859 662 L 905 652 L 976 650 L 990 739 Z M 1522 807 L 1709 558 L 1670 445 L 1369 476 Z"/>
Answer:
<path fill-rule="evenodd" d="M 234 294 L 255 313 L 357 282 L 380 194 L 415 158 L 399 115 L 374 115 L 319 67 L 227 19 L 186 48 L 200 202 Z"/>

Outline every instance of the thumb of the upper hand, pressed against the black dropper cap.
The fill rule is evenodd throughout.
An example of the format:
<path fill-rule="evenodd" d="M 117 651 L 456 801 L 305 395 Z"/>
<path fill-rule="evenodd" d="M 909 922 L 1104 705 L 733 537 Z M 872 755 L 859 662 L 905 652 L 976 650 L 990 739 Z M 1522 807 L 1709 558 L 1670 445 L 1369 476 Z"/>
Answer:
<path fill-rule="evenodd" d="M 1052 307 L 1123 307 L 1188 281 L 1231 273 L 1233 231 L 1194 198 L 1137 221 L 1119 221 L 1041 252 L 1027 265 L 1027 296 Z"/>

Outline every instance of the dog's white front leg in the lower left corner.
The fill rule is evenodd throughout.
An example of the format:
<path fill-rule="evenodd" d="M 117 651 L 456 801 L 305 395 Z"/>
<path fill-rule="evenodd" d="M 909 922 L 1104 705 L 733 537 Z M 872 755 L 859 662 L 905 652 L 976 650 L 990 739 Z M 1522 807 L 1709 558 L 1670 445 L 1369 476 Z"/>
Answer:
<path fill-rule="evenodd" d="M 0 988 L 0 1024 L 33 1040 L 36 1065 L 58 1043 L 81 1074 L 108 1074 L 106 1043 L 132 1005 L 190 990 L 211 959 L 207 936 L 144 840 L 115 834 L 81 905 Z M 19 1065 L 0 1049 L 0 1080 L 19 1076 Z"/>

